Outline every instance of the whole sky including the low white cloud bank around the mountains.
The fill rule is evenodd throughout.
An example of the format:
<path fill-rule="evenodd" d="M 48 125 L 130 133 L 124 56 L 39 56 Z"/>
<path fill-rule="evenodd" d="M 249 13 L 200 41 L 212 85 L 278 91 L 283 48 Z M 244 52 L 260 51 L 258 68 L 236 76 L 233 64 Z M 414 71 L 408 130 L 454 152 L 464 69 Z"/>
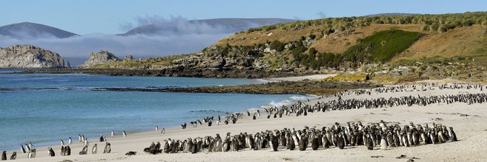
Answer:
<path fill-rule="evenodd" d="M 56 38 L 29 35 L 18 29 L 15 37 L 0 35 L 0 47 L 32 44 L 63 58 L 88 58 L 90 52 L 110 51 L 119 58 L 189 54 L 214 44 L 235 29 L 192 23 L 192 19 L 285 18 L 319 19 L 377 13 L 465 13 L 487 9 L 485 0 L 0 0 L 0 26 L 33 22 L 54 26 L 80 36 Z M 115 35 L 137 26 L 164 26 L 156 35 Z M 255 24 L 248 24 L 249 27 Z M 168 30 L 170 29 L 170 30 Z M 71 65 L 73 63 L 72 59 Z M 80 61 L 78 64 L 80 64 Z"/>

